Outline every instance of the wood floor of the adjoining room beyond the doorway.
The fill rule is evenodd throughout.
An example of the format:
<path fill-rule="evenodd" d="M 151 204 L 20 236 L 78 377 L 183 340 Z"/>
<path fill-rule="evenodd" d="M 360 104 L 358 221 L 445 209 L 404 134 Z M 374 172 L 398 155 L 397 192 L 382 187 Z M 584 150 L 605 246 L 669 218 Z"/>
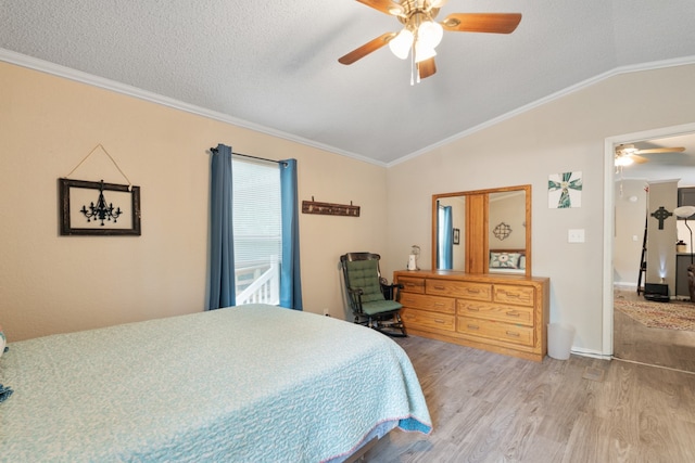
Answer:
<path fill-rule="evenodd" d="M 614 296 L 644 300 L 636 291 L 616 291 Z M 612 345 L 616 358 L 695 373 L 695 332 L 647 327 L 615 310 Z"/>

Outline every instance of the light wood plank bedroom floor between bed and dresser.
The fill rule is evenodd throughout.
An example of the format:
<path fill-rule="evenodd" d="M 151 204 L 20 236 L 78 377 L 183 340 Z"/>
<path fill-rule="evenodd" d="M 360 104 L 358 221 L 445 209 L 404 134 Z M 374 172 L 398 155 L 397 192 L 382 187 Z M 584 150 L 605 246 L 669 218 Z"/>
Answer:
<path fill-rule="evenodd" d="M 536 363 L 416 336 L 396 342 L 434 430 L 395 429 L 367 462 L 695 462 L 695 374 L 573 355 Z"/>

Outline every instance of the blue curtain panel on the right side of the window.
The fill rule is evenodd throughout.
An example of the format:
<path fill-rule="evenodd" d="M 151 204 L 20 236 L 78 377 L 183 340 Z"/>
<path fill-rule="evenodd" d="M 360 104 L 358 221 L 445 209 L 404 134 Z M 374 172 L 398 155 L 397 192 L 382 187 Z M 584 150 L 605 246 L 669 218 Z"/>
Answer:
<path fill-rule="evenodd" d="M 282 204 L 282 266 L 280 268 L 280 306 L 302 310 L 300 273 L 300 220 L 296 193 L 296 159 L 280 162 Z"/>

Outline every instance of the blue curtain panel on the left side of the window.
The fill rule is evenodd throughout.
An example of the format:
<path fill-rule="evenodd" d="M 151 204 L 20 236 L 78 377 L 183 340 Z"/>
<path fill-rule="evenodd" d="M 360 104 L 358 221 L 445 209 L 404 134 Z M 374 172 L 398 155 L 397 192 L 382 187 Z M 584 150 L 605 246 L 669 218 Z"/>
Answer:
<path fill-rule="evenodd" d="M 232 228 L 231 147 L 212 150 L 210 201 L 210 300 L 214 310 L 236 304 Z"/>

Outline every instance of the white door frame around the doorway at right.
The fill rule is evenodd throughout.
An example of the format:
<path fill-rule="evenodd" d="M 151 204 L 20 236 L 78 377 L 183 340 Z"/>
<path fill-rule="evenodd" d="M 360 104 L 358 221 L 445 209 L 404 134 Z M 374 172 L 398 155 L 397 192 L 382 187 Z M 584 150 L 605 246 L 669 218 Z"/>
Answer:
<path fill-rule="evenodd" d="M 603 287 L 603 348 L 602 357 L 611 358 L 612 346 L 612 300 L 614 300 L 614 236 L 616 228 L 616 202 L 615 202 L 615 166 L 614 150 L 617 144 L 632 143 L 667 137 L 678 137 L 695 133 L 695 123 L 680 126 L 662 127 L 633 133 L 624 133 L 608 137 L 604 141 L 604 287 Z"/>

